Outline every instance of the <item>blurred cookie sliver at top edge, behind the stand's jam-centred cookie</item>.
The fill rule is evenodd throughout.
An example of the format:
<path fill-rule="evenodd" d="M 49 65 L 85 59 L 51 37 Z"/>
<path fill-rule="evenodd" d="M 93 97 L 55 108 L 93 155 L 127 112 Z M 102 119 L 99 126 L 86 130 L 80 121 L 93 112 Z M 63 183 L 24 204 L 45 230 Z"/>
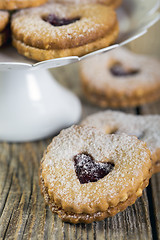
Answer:
<path fill-rule="evenodd" d="M 107 5 L 108 7 L 117 8 L 120 6 L 122 0 L 54 0 L 59 3 L 70 4 L 86 4 L 86 3 L 99 3 Z"/>

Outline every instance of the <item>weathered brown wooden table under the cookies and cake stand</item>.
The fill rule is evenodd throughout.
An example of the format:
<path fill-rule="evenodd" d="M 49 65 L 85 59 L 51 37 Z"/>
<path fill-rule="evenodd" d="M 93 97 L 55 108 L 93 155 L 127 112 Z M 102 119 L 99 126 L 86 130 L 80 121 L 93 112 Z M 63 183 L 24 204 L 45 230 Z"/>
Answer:
<path fill-rule="evenodd" d="M 130 44 L 134 51 L 160 56 L 156 24 L 147 35 Z M 156 34 L 156 35 L 155 35 Z M 75 92 L 83 116 L 97 112 L 83 97 L 78 65 L 52 70 L 58 81 Z M 123 109 L 136 112 L 137 109 Z M 139 108 L 141 114 L 160 113 L 160 101 Z M 93 224 L 62 223 L 45 206 L 38 184 L 38 168 L 50 139 L 27 143 L 0 143 L 0 239 L 160 239 L 160 173 L 134 205 L 115 217 Z"/>

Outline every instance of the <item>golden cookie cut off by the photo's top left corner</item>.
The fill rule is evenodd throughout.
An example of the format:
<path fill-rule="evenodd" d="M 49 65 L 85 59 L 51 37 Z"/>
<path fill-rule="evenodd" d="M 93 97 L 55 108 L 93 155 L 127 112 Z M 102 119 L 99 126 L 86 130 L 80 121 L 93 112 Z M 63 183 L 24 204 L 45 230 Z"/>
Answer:
<path fill-rule="evenodd" d="M 0 0 L 0 9 L 16 10 L 21 8 L 36 7 L 46 2 L 47 0 Z"/>

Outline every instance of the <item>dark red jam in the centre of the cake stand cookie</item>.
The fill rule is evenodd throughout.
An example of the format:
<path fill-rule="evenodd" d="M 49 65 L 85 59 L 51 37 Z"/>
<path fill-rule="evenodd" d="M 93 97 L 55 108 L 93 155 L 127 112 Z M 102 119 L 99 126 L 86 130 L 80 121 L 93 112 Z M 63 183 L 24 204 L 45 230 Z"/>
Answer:
<path fill-rule="evenodd" d="M 49 14 L 48 16 L 43 17 L 43 20 L 45 22 L 50 23 L 51 25 L 55 26 L 55 27 L 60 27 L 63 25 L 69 25 L 71 23 L 74 23 L 78 20 L 80 20 L 79 17 L 76 18 L 59 18 L 54 14 Z"/>

